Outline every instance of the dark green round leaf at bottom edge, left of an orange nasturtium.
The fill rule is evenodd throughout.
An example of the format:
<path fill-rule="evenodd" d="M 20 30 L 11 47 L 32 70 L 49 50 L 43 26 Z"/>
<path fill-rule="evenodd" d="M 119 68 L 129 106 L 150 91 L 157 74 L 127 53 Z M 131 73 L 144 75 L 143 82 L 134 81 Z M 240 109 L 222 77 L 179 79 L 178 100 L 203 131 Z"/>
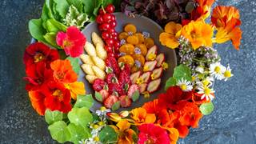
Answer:
<path fill-rule="evenodd" d="M 102 143 L 116 143 L 118 134 L 110 126 L 105 126 L 99 133 L 99 140 Z"/>

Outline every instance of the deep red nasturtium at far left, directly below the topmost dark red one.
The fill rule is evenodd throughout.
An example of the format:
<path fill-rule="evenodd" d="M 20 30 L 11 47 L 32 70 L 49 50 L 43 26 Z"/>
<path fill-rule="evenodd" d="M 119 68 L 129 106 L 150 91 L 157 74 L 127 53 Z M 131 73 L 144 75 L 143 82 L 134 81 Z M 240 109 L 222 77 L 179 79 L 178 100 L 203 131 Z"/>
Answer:
<path fill-rule="evenodd" d="M 44 84 L 53 79 L 53 71 L 46 68 L 45 62 L 38 62 L 26 67 L 26 77 L 28 83 L 26 90 L 40 90 Z"/>

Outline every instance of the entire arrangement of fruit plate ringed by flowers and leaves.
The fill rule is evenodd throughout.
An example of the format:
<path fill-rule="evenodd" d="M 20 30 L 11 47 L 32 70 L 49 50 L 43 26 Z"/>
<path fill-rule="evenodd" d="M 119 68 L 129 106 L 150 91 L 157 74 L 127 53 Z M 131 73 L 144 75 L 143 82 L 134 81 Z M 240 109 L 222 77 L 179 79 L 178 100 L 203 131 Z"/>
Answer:
<path fill-rule="evenodd" d="M 233 6 L 120 2 L 46 0 L 29 23 L 26 90 L 58 142 L 176 143 L 214 110 L 214 80 L 233 76 L 213 47 L 239 49 Z"/>

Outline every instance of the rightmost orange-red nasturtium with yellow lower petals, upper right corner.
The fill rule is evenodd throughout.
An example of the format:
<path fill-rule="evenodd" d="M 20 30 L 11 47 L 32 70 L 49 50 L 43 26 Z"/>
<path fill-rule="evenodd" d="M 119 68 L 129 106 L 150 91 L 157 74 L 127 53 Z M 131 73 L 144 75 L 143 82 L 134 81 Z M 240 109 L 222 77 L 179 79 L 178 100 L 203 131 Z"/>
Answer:
<path fill-rule="evenodd" d="M 242 30 L 238 27 L 241 25 L 239 18 L 239 11 L 233 6 L 214 8 L 211 21 L 218 30 L 214 42 L 223 43 L 231 40 L 234 48 L 239 50 L 242 38 Z"/>

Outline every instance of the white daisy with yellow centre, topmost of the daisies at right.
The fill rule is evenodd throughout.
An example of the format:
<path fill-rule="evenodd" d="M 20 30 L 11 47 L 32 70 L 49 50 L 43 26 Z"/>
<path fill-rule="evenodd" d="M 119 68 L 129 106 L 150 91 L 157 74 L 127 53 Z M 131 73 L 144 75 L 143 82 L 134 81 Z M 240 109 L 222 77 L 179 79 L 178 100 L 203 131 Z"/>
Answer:
<path fill-rule="evenodd" d="M 210 75 L 214 76 L 214 78 L 218 80 L 222 80 L 224 78 L 223 72 L 225 70 L 226 67 L 222 66 L 220 62 L 210 64 Z"/>

